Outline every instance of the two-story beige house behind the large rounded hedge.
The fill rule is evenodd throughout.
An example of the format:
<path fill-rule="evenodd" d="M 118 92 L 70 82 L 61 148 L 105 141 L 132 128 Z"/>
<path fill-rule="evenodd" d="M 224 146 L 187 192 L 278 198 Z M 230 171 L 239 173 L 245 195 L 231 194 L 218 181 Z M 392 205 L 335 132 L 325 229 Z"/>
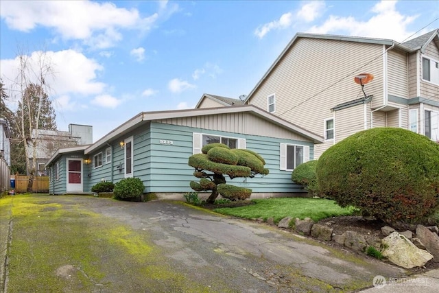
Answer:
<path fill-rule="evenodd" d="M 374 77 L 363 89 L 354 82 L 362 73 Z M 244 104 L 324 137 L 315 159 L 373 127 L 406 128 L 439 141 L 439 30 L 405 43 L 296 34 Z"/>

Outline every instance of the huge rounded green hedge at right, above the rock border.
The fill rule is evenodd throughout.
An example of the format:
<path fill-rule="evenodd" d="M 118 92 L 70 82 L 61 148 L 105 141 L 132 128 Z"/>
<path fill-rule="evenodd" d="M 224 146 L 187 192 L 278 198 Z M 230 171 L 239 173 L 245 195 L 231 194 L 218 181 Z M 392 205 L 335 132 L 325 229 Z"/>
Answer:
<path fill-rule="evenodd" d="M 385 222 L 423 223 L 439 209 L 439 144 L 401 128 L 357 132 L 325 151 L 320 191 Z"/>

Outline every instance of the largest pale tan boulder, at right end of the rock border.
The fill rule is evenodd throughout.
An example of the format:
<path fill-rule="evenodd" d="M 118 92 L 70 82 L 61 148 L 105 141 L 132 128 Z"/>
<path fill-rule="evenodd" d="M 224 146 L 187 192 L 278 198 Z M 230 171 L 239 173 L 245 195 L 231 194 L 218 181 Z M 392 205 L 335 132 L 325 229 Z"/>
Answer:
<path fill-rule="evenodd" d="M 382 241 L 385 246 L 383 257 L 403 268 L 414 268 L 424 266 L 429 260 L 433 259 L 427 250 L 417 248 L 409 239 L 398 232 L 391 233 Z"/>

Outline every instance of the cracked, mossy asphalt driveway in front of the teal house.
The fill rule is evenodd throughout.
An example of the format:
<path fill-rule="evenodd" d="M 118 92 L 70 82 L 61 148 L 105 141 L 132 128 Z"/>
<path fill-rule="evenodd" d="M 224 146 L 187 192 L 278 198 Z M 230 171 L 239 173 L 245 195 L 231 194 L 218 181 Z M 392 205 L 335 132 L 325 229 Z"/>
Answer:
<path fill-rule="evenodd" d="M 403 270 L 381 261 L 181 202 L 120 202 L 91 196 L 38 196 L 38 200 L 47 205 L 43 211 L 58 215 L 52 223 L 59 225 L 58 237 L 67 237 L 62 233 L 75 221 L 84 223 L 82 233 L 94 237 L 80 249 L 84 254 L 96 250 L 91 259 L 98 261 L 91 262 L 97 272 L 88 272 L 92 269 L 81 257 L 69 257 L 69 250 L 78 249 L 73 241 L 58 248 L 66 251 L 61 260 L 47 261 L 47 275 L 67 280 L 68 285 L 61 285 L 63 292 L 357 292 L 371 287 L 377 275 L 403 277 Z M 14 227 L 10 275 L 19 267 L 19 258 L 13 255 L 20 242 L 39 241 L 43 246 L 49 237 L 32 239 L 38 233 L 19 233 L 18 227 L 26 230 L 27 226 L 19 225 L 24 220 L 14 215 L 12 206 L 1 210 L 2 231 L 8 217 Z M 60 216 L 67 210 L 69 216 Z M 5 216 L 8 212 L 10 216 Z M 34 218 L 38 221 L 38 216 Z M 91 224 L 97 219 L 102 221 L 99 225 Z M 4 242 L 5 237 L 1 239 Z M 10 278 L 8 292 L 25 292 L 17 282 L 17 277 Z M 47 289 L 43 282 L 41 288 Z"/>

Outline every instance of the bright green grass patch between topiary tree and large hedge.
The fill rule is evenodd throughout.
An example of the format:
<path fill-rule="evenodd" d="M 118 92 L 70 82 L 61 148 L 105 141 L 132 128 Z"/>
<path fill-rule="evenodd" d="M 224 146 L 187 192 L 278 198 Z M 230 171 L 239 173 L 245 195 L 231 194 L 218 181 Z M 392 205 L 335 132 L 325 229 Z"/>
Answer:
<path fill-rule="evenodd" d="M 286 217 L 311 218 L 315 222 L 329 217 L 353 215 L 355 209 L 342 208 L 333 200 L 322 198 L 269 198 L 252 200 L 255 204 L 245 207 L 215 209 L 217 213 L 244 219 L 273 218 L 275 223 Z"/>

